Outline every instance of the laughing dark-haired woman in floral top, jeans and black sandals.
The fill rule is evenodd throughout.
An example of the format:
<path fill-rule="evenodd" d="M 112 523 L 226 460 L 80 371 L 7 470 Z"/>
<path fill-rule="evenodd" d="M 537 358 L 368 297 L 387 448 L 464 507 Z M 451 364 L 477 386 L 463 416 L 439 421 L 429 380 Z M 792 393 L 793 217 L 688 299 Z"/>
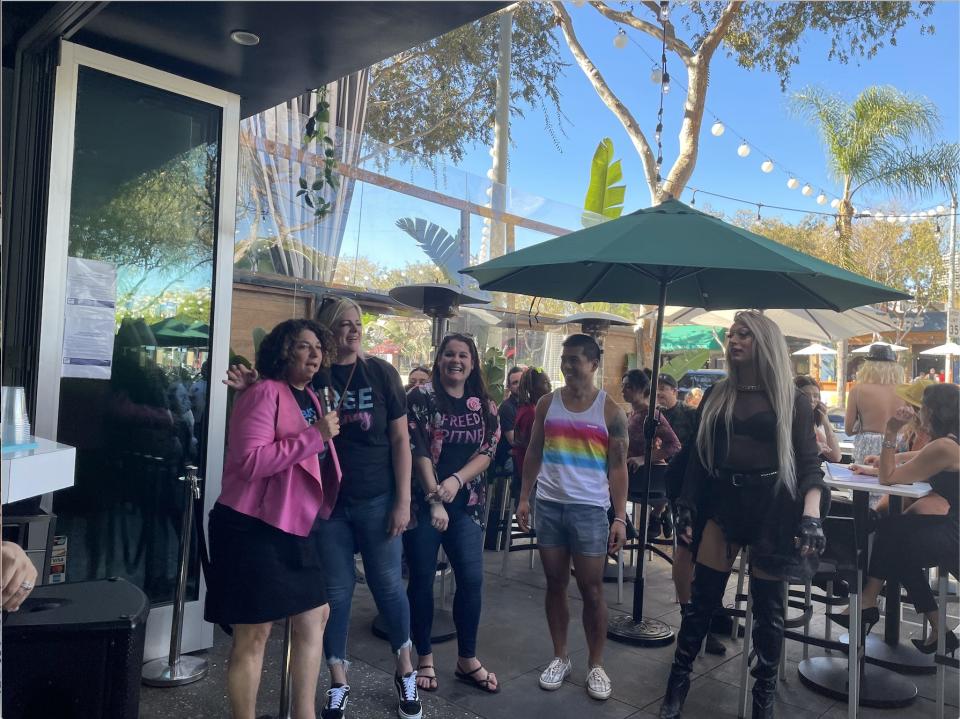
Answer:
<path fill-rule="evenodd" d="M 436 691 L 430 634 L 433 581 L 440 545 L 456 577 L 455 675 L 483 691 L 499 691 L 496 676 L 477 659 L 483 591 L 483 510 L 490 465 L 500 437 L 497 406 L 487 396 L 473 339 L 453 334 L 437 350 L 431 381 L 407 395 L 407 417 L 417 478 L 410 528 L 403 546 L 410 569 L 410 629 L 420 655 L 417 681 Z"/>

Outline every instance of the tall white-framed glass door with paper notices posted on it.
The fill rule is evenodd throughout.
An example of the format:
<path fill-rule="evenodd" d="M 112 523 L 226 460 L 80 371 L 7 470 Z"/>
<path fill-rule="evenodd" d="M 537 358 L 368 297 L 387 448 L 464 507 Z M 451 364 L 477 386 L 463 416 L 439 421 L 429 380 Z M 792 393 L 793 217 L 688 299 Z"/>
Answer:
<path fill-rule="evenodd" d="M 60 296 L 44 305 L 38 433 L 77 448 L 74 486 L 53 498 L 65 579 L 142 588 L 150 659 L 169 641 L 181 478 L 198 467 L 206 508 L 219 494 L 225 397 L 211 377 L 229 340 L 237 103 L 64 45 L 54 154 L 68 181 L 51 183 L 45 284 Z M 184 651 L 212 638 L 196 546 Z"/>

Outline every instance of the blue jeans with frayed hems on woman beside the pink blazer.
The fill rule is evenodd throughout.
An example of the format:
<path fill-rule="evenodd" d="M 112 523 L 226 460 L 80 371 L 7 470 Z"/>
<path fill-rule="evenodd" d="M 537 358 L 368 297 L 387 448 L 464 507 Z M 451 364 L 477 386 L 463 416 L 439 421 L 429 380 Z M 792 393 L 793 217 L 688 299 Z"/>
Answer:
<path fill-rule="evenodd" d="M 353 560 L 360 551 L 367 586 L 387 625 L 390 647 L 398 652 L 410 642 L 410 605 L 400 576 L 401 543 L 387 534 L 393 494 L 373 499 L 337 502 L 325 522 L 318 522 L 317 538 L 327 572 L 330 618 L 323 633 L 327 664 L 346 663 L 347 630 L 356 571 Z"/>

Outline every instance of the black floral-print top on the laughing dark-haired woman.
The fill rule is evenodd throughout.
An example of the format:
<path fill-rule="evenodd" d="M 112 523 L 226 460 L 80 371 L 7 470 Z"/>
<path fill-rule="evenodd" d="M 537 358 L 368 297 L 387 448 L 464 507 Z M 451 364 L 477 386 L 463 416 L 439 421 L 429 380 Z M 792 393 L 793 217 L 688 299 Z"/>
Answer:
<path fill-rule="evenodd" d="M 432 383 L 427 383 L 420 387 L 410 390 L 407 395 L 407 422 L 410 426 L 410 448 L 414 457 L 427 457 L 433 465 L 434 471 L 444 462 L 444 448 L 453 450 L 456 444 L 462 447 L 464 441 L 469 442 L 471 450 L 464 456 L 463 463 L 458 464 L 457 469 L 462 467 L 478 455 L 486 455 L 493 458 L 497 449 L 497 441 L 500 439 L 500 423 L 497 422 L 497 405 L 490 402 L 489 416 L 493 418 L 488 422 L 481 411 L 482 405 L 479 397 L 465 397 L 465 405 L 468 411 L 468 421 L 451 421 L 454 418 L 445 415 L 437 406 L 437 394 Z M 470 415 L 479 419 L 470 420 Z M 454 429 L 451 429 L 454 427 Z M 452 435 L 459 433 L 454 439 Z M 450 440 L 447 444 L 446 440 Z M 448 450 L 448 451 L 449 451 Z M 446 473 L 450 476 L 449 473 Z M 467 492 L 466 510 L 470 518 L 483 526 L 484 508 L 487 502 L 487 482 L 485 472 L 480 473 L 464 485 Z M 443 478 L 441 478 L 443 479 Z M 413 491 L 411 496 L 410 525 L 413 528 L 417 523 L 418 512 L 427 508 L 427 501 L 424 497 L 423 487 L 416 478 L 414 470 Z"/>

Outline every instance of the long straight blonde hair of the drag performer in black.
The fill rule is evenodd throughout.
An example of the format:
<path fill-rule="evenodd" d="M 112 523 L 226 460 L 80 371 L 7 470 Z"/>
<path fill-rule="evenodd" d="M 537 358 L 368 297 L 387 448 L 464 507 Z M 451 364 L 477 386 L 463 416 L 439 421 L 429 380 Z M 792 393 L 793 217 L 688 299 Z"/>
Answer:
<path fill-rule="evenodd" d="M 780 328 L 759 312 L 738 312 L 733 320 L 753 333 L 753 362 L 757 377 L 777 418 L 777 482 L 790 496 L 797 496 L 797 468 L 793 457 L 793 407 L 796 388 L 790 368 L 787 341 Z M 727 344 L 727 377 L 717 382 L 710 400 L 703 407 L 703 418 L 697 430 L 697 453 L 711 473 L 715 466 L 716 425 L 722 418 L 727 441 L 732 436 L 733 406 L 737 400 L 740 379 L 737 366 L 730 361 Z"/>

